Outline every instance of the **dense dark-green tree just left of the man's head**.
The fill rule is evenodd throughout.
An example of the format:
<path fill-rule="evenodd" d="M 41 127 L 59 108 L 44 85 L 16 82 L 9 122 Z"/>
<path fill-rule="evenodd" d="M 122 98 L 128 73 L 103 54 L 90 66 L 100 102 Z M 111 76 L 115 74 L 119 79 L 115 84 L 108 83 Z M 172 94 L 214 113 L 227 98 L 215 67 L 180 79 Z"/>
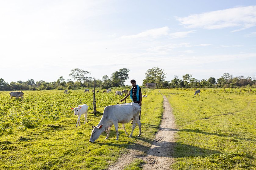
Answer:
<path fill-rule="evenodd" d="M 116 71 L 114 73 L 112 73 L 112 85 L 113 86 L 124 86 L 124 82 L 129 79 L 129 73 L 130 70 L 123 68 L 120 69 L 119 71 Z"/>

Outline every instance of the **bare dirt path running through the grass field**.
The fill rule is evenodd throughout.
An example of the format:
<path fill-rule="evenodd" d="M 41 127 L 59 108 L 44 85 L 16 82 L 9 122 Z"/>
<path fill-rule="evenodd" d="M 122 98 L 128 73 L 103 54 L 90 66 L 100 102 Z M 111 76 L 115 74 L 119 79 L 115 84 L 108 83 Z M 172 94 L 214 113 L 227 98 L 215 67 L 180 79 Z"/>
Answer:
<path fill-rule="evenodd" d="M 160 128 L 155 136 L 155 141 L 148 151 L 148 155 L 141 157 L 141 153 L 137 150 L 130 150 L 128 154 L 123 155 L 116 165 L 109 167 L 108 170 L 120 170 L 125 165 L 129 165 L 135 158 L 143 159 L 146 164 L 143 165 L 144 170 L 149 169 L 170 169 L 170 165 L 174 162 L 172 158 L 173 147 L 175 144 L 174 134 L 176 133 L 172 108 L 168 100 L 164 97 L 163 118 Z"/>

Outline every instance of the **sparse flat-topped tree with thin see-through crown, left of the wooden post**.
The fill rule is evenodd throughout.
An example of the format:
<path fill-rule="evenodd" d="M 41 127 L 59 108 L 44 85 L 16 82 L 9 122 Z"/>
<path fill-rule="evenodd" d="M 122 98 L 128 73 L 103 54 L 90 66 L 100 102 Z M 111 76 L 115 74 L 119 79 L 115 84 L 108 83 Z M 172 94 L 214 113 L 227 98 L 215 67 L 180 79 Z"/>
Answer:
<path fill-rule="evenodd" d="M 92 81 L 92 77 L 87 77 L 87 74 L 91 74 L 89 71 L 84 71 L 81 69 L 72 69 L 69 76 L 73 77 L 74 80 L 80 82 L 80 86 L 87 87 L 89 82 Z"/>

